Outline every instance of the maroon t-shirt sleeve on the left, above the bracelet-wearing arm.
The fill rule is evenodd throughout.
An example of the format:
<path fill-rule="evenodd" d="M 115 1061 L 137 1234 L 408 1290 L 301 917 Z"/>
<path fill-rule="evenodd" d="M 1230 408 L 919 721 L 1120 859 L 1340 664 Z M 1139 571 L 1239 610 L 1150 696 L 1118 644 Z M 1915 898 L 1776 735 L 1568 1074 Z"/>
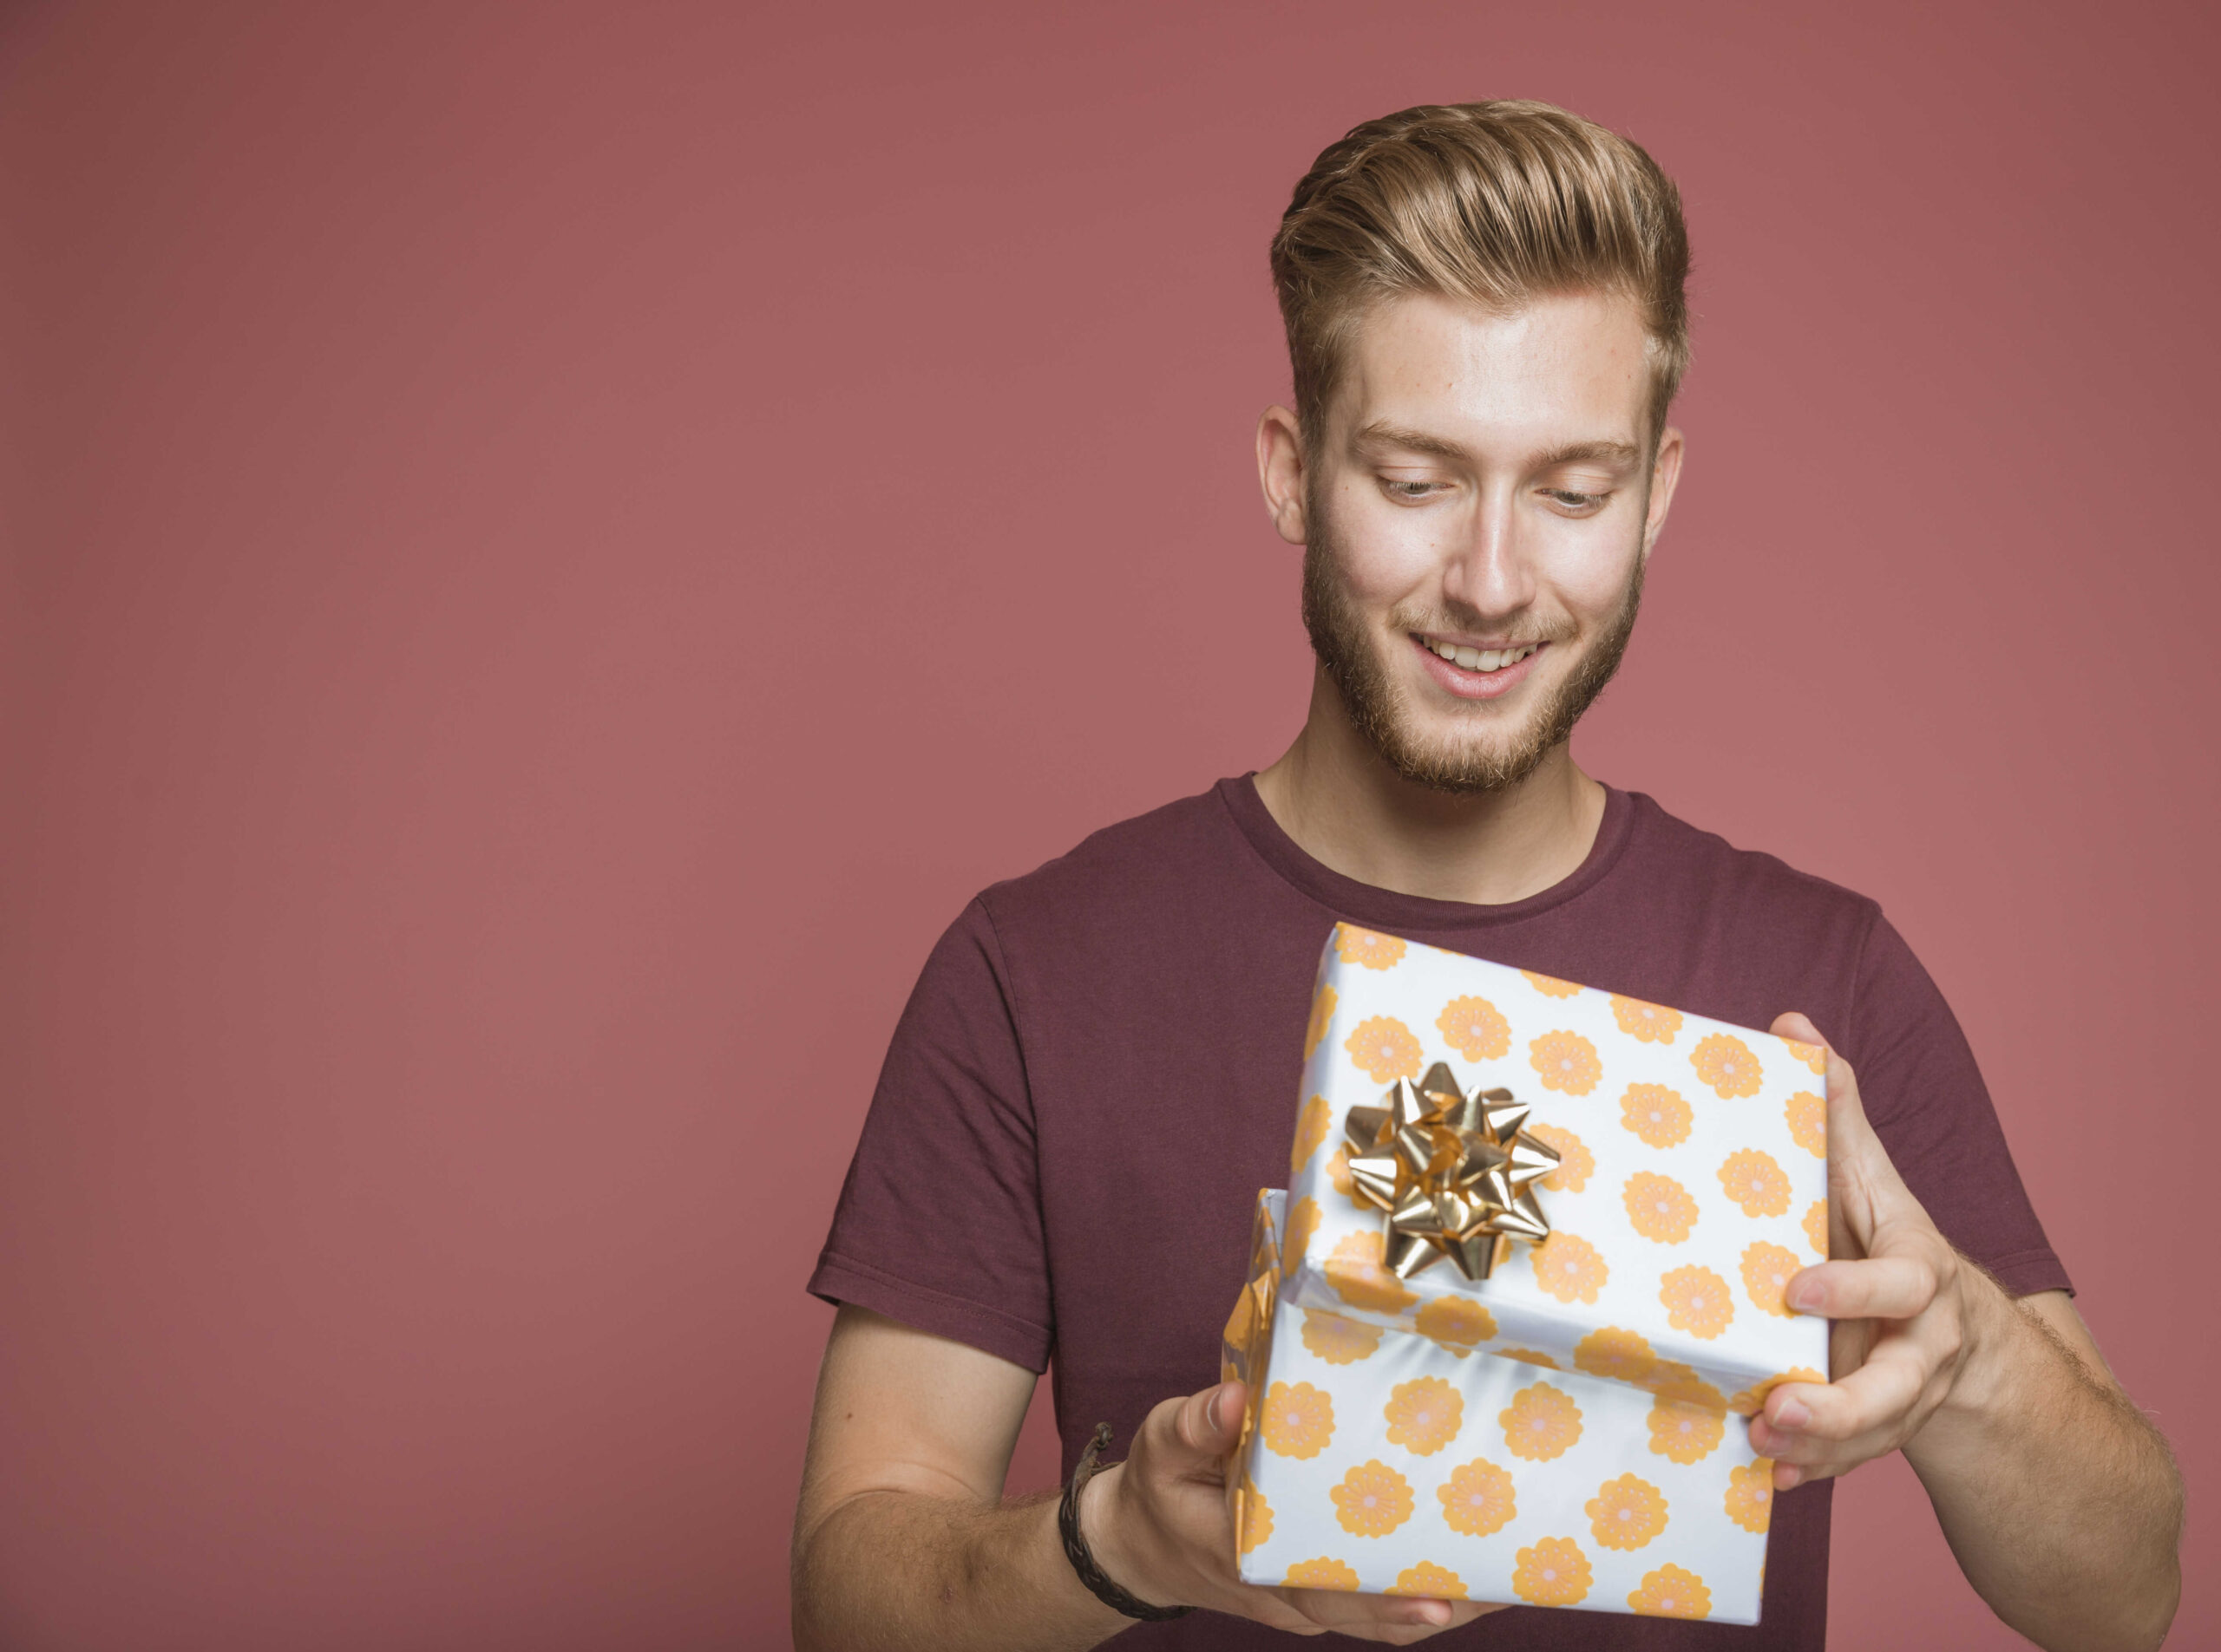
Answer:
<path fill-rule="evenodd" d="M 1033 1104 L 979 901 L 942 935 L 895 1024 L 808 1288 L 1033 1372 L 1048 1366 Z"/>

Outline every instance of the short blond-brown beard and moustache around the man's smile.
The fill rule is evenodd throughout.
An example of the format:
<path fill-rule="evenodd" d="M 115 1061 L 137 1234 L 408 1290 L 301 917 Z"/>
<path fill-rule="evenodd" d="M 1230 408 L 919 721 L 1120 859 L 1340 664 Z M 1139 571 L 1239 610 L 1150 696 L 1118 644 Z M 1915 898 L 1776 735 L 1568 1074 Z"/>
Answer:
<path fill-rule="evenodd" d="M 1315 506 L 1317 502 L 1313 502 Z M 1635 613 L 1644 600 L 1644 557 L 1635 560 L 1628 591 L 1619 600 L 1619 611 L 1606 622 L 1597 639 L 1572 662 L 1572 671 L 1550 691 L 1544 704 L 1524 724 L 1508 726 L 1504 737 L 1490 737 L 1504 722 L 1495 702 L 1459 702 L 1461 722 L 1473 731 L 1457 737 L 1428 737 L 1419 733 L 1410 697 L 1388 675 L 1381 648 L 1366 628 L 1364 615 L 1350 602 L 1337 575 L 1333 533 L 1317 508 L 1308 513 L 1310 540 L 1304 544 L 1304 628 L 1310 633 L 1310 651 L 1326 666 L 1350 722 L 1373 751 L 1379 753 L 1397 775 L 1413 786 L 1475 797 L 1517 786 L 1535 773 L 1544 757 L 1572 735 L 1572 726 L 1604 693 L 1604 684 L 1619 671 L 1628 653 L 1628 637 L 1635 635 Z M 1421 611 L 1393 611 L 1388 626 L 1393 633 L 1415 631 L 1484 631 L 1481 624 L 1457 622 L 1435 624 L 1435 615 Z M 1548 642 L 1552 646 L 1570 639 L 1570 626 L 1561 635 L 1541 633 L 1521 642 Z"/>

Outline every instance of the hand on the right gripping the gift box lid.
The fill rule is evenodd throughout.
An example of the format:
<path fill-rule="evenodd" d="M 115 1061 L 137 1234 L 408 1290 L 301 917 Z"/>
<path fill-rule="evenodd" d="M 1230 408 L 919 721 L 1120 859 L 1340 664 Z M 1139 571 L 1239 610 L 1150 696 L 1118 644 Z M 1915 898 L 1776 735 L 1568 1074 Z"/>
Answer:
<path fill-rule="evenodd" d="M 1803 1015 L 1772 1032 L 1826 1044 Z M 1828 1257 L 1788 1283 L 1788 1306 L 1826 1314 L 1832 1377 L 1783 1383 L 1750 1419 L 1775 1490 L 1895 1452 L 1950 1397 L 2003 1295 L 1950 1248 L 1866 1121 L 1850 1061 L 1828 1048 Z"/>

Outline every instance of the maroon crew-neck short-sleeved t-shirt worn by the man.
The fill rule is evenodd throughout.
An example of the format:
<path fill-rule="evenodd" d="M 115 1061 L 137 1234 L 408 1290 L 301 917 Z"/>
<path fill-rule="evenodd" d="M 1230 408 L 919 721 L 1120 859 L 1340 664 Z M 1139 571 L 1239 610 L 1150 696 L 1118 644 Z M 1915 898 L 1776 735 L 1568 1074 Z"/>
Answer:
<path fill-rule="evenodd" d="M 1508 906 L 1328 870 L 1248 777 L 995 884 L 895 1028 L 811 1290 L 1053 1372 L 1071 1472 L 1208 1388 L 1257 1188 L 1288 1181 L 1304 1019 L 1337 919 L 1766 1028 L 1803 1010 L 1943 1235 L 2006 1290 L 2066 1290 L 1974 1057 L 1875 901 L 1610 790 L 1561 884 Z M 1775 1501 L 1759 1628 L 1495 1612 L 1439 1648 L 1817 1648 L 1826 1481 Z M 1877 1581 L 1879 1585 L 1879 1581 Z M 1293 1645 L 1197 1612 L 1119 1645 Z M 1308 1641 L 1319 1645 L 1319 1641 Z"/>

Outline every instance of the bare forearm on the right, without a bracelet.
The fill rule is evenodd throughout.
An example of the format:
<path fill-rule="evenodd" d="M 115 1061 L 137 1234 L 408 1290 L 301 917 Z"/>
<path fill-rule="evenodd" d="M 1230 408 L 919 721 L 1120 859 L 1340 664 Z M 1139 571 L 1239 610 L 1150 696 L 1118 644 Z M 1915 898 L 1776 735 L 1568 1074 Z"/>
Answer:
<path fill-rule="evenodd" d="M 1906 1443 L 1968 1581 L 2046 1648 L 2157 1648 L 2181 1592 L 2165 1441 L 1983 1281 L 1952 1399 Z"/>

